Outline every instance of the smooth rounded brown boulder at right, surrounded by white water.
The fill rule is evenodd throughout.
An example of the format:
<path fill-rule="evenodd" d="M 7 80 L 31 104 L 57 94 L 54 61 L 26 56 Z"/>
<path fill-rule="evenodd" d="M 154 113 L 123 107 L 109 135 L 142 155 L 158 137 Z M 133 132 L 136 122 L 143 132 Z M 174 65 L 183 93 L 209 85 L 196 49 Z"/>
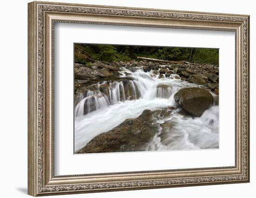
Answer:
<path fill-rule="evenodd" d="M 213 104 L 210 92 L 196 87 L 180 89 L 174 98 L 183 109 L 195 116 L 201 116 Z"/>

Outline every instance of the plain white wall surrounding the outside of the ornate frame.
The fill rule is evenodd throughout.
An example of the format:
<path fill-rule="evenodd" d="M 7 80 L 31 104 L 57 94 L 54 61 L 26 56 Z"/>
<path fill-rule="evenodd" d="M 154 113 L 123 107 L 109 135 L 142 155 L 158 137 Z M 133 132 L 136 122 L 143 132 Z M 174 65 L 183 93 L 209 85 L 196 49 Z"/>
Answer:
<path fill-rule="evenodd" d="M 55 1 L 55 0 L 52 0 Z M 256 188 L 256 13 L 252 0 L 61 0 L 62 2 L 148 7 L 215 13 L 250 15 L 250 116 L 251 182 L 246 184 L 208 185 L 140 191 L 65 195 L 61 197 L 128 198 L 128 197 L 254 197 Z M 0 9 L 0 186 L 1 197 L 27 195 L 27 0 L 1 2 Z M 58 2 L 58 1 L 56 1 Z M 228 78 L 228 77 L 227 77 Z M 229 119 L 229 118 L 227 118 Z"/>

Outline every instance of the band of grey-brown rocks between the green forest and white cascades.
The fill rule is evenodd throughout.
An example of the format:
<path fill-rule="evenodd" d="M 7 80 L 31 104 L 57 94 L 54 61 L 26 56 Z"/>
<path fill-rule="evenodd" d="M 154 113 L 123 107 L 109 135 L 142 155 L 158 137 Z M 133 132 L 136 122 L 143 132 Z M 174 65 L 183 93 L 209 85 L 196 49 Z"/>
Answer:
<path fill-rule="evenodd" d="M 159 75 L 159 78 L 170 77 L 177 74 L 181 80 L 202 85 L 218 95 L 219 92 L 219 67 L 211 64 L 160 64 L 148 61 L 130 61 L 103 63 L 94 62 L 88 67 L 84 64 L 74 64 L 74 93 L 75 99 L 79 93 L 94 89 L 95 84 L 102 81 L 107 83 L 121 81 L 120 76 L 122 67 L 142 67 L 145 72 L 153 70 L 152 75 Z M 127 77 L 127 80 L 130 78 Z M 104 85 L 106 87 L 106 85 Z M 77 100 L 76 100 L 77 103 Z"/>

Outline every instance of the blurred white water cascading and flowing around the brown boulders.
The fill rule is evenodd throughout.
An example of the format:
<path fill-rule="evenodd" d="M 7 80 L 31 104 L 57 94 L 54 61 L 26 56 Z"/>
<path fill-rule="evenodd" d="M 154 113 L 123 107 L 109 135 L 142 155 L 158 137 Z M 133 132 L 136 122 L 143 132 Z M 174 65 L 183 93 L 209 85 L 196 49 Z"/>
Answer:
<path fill-rule="evenodd" d="M 120 73 L 122 81 L 98 83 L 97 89 L 79 96 L 80 102 L 74 110 L 75 152 L 96 135 L 115 128 L 128 118 L 138 117 L 145 109 L 166 107 L 176 109 L 168 118 L 155 120 L 161 127 L 145 145 L 145 151 L 218 148 L 219 106 L 216 102 L 201 117 L 178 113 L 180 107 L 174 100 L 175 93 L 183 87 L 198 85 L 182 81 L 176 74 L 160 76 L 159 71 L 144 72 L 139 67 L 122 68 Z M 107 89 L 101 89 L 102 86 Z"/>

